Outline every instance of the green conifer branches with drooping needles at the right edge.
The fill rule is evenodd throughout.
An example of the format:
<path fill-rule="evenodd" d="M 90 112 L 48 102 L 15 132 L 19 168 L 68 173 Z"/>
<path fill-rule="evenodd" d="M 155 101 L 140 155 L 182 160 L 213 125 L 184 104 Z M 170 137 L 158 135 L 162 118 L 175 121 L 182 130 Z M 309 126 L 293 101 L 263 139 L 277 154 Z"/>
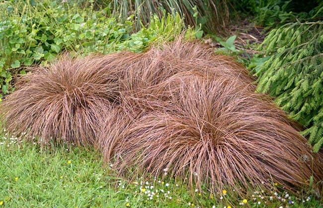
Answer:
<path fill-rule="evenodd" d="M 256 67 L 257 90 L 274 96 L 303 124 L 314 151 L 323 144 L 323 21 L 289 23 L 261 44 L 266 58 Z"/>

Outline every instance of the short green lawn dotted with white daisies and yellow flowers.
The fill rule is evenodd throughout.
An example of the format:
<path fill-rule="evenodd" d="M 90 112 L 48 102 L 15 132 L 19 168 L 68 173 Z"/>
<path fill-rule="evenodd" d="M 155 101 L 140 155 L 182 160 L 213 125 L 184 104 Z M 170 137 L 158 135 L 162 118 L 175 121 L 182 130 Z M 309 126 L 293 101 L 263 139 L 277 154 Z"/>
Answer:
<path fill-rule="evenodd" d="M 309 192 L 298 199 L 287 192 L 249 190 L 245 199 L 223 190 L 187 190 L 185 179 L 132 182 L 116 177 L 100 154 L 79 147 L 25 143 L 1 128 L 0 207 L 322 207 Z M 165 173 L 167 170 L 165 170 Z"/>

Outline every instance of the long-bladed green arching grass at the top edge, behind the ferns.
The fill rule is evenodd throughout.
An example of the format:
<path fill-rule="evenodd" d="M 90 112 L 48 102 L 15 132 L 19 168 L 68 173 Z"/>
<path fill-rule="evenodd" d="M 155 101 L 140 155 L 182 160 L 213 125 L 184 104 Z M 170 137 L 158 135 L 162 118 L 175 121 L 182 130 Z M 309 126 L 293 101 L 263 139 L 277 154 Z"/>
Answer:
<path fill-rule="evenodd" d="M 136 27 L 150 22 L 151 14 L 160 18 L 167 11 L 173 15 L 177 12 L 186 25 L 202 25 L 206 32 L 225 34 L 230 22 L 230 0 L 114 0 L 114 11 L 121 19 L 134 13 Z"/>

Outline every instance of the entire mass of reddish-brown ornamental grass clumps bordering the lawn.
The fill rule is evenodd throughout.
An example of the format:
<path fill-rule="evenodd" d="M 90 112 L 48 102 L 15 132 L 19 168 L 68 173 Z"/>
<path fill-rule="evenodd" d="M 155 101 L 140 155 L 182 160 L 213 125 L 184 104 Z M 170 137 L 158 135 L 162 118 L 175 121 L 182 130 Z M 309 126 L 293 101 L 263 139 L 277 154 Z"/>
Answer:
<path fill-rule="evenodd" d="M 322 154 L 232 58 L 178 40 L 36 67 L 2 103 L 9 130 L 42 141 L 94 145 L 106 164 L 187 177 L 211 192 L 279 183 L 321 189 Z"/>

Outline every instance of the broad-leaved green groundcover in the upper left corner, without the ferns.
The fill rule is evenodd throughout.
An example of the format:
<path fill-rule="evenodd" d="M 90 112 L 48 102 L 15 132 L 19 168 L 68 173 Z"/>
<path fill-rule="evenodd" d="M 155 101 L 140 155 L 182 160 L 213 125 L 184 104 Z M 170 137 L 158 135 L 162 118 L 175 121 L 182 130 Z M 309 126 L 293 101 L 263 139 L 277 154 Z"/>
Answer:
<path fill-rule="evenodd" d="M 0 83 L 8 93 L 13 74 L 23 67 L 47 64 L 62 51 L 106 51 L 131 30 L 103 12 L 80 9 L 59 1 L 36 5 L 18 1 L 0 5 Z"/>

